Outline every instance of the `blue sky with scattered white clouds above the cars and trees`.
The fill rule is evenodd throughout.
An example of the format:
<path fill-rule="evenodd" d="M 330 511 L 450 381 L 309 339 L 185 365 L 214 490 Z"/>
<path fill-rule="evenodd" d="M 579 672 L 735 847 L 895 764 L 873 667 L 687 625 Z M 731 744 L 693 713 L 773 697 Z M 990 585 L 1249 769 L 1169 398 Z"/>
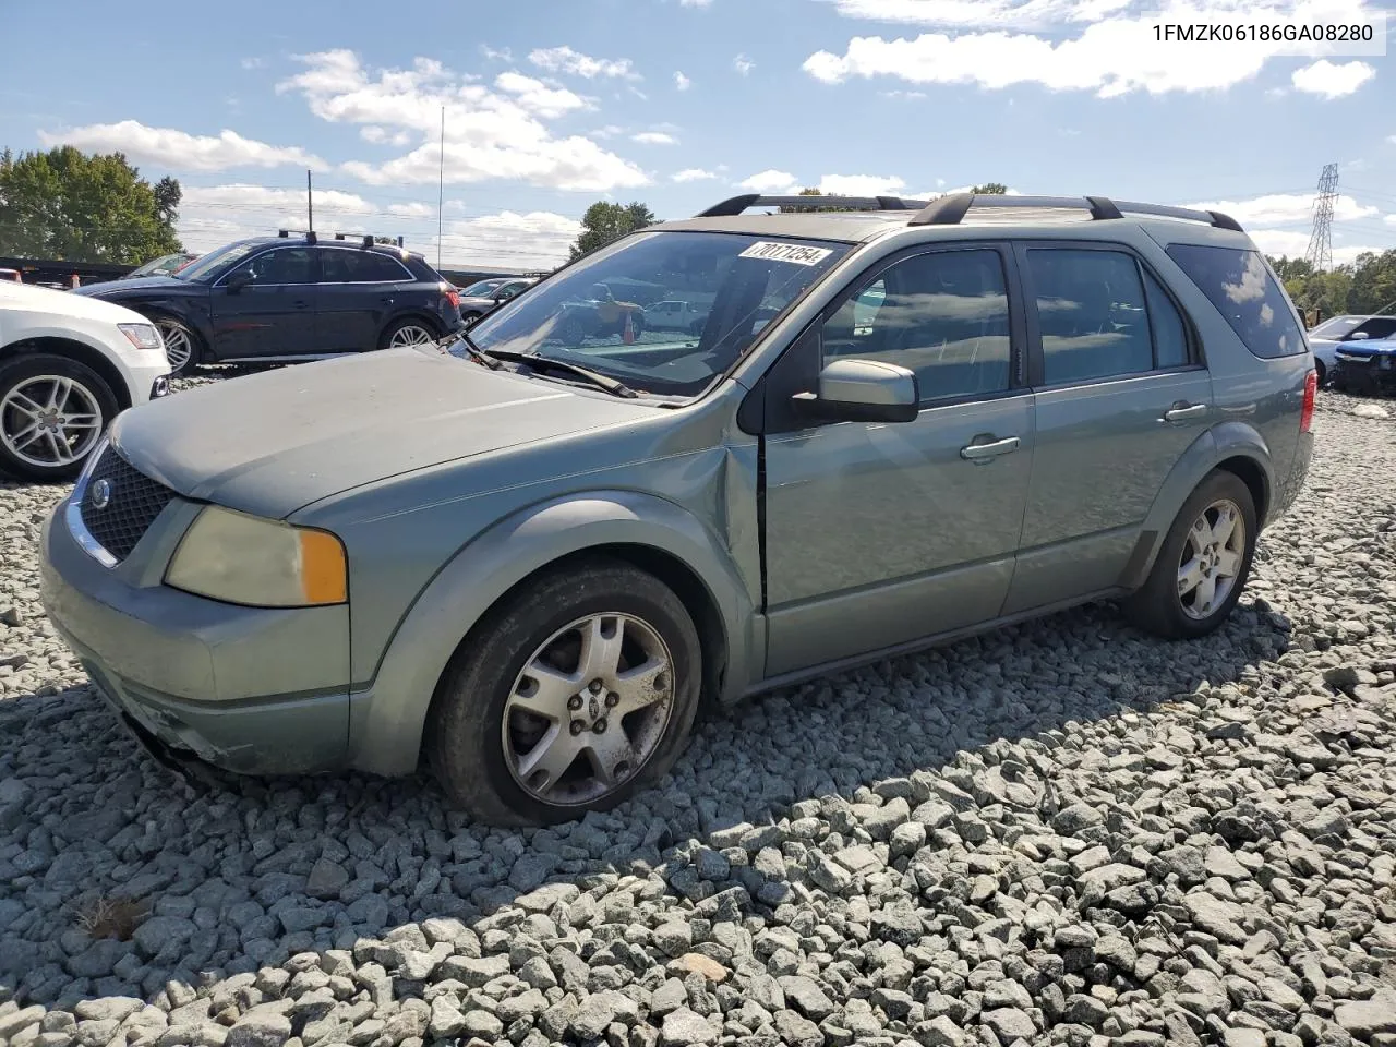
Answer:
<path fill-rule="evenodd" d="M 1154 42 L 1142 21 L 1353 22 L 1358 53 Z M 515 268 L 602 198 L 662 218 L 758 188 L 976 181 L 1220 205 L 1302 254 L 1396 246 L 1396 77 L 1360 0 L 240 0 L 202 18 L 0 0 L 0 145 L 123 149 L 207 250 L 304 225 Z M 202 22 L 202 25 L 197 25 Z M 1390 22 L 1396 28 L 1396 18 Z"/>

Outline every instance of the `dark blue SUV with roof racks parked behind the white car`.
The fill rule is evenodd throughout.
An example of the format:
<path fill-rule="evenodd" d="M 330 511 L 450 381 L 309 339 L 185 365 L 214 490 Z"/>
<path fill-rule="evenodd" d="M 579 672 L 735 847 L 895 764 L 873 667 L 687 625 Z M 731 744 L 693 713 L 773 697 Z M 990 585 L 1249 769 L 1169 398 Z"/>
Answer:
<path fill-rule="evenodd" d="M 176 374 L 423 345 L 461 328 L 459 295 L 441 274 L 420 254 L 367 240 L 237 240 L 173 274 L 73 293 L 149 317 Z"/>

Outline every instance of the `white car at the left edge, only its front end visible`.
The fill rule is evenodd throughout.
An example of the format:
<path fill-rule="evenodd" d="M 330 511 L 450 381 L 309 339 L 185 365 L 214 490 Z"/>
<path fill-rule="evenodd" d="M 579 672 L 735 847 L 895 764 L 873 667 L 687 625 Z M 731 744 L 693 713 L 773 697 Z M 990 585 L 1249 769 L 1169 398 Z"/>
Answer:
<path fill-rule="evenodd" d="M 140 313 L 0 281 L 0 472 L 73 479 L 117 413 L 169 391 L 168 374 Z"/>

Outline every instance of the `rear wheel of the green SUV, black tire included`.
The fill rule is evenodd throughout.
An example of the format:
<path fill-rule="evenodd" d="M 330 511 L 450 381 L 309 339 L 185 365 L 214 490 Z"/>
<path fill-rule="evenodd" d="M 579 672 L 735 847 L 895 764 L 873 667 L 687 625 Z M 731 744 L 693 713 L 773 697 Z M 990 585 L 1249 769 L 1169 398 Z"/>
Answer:
<path fill-rule="evenodd" d="M 1213 547 L 1215 532 L 1210 529 L 1220 522 L 1220 512 L 1234 517 L 1237 522 L 1226 542 Z M 1203 519 L 1209 533 L 1199 539 L 1195 526 Z M 1251 489 L 1235 473 L 1213 470 L 1182 504 L 1148 581 L 1124 602 L 1125 617 L 1134 625 L 1164 639 L 1195 639 L 1215 631 L 1241 599 L 1241 591 L 1251 575 L 1256 536 Z M 1219 558 L 1219 553 L 1228 556 Z M 1192 582 L 1192 588 L 1180 592 L 1185 584 L 1182 567 L 1188 563 L 1201 563 L 1203 571 L 1201 578 L 1194 572 L 1187 579 Z M 1212 568 L 1210 575 L 1206 574 L 1206 567 Z M 1206 596 L 1209 581 L 1213 585 L 1213 599 L 1199 603 Z M 1224 595 L 1216 596 L 1223 584 L 1228 584 L 1228 588 Z"/>

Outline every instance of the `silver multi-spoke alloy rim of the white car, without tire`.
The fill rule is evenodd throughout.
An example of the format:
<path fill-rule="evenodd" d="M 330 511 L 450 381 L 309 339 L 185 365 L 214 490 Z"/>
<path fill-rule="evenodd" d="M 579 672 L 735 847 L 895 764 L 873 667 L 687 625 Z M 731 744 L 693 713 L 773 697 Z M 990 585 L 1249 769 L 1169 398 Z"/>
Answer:
<path fill-rule="evenodd" d="M 102 434 L 96 395 L 75 378 L 38 374 L 0 399 L 0 440 L 22 462 L 39 468 L 71 465 Z"/>

